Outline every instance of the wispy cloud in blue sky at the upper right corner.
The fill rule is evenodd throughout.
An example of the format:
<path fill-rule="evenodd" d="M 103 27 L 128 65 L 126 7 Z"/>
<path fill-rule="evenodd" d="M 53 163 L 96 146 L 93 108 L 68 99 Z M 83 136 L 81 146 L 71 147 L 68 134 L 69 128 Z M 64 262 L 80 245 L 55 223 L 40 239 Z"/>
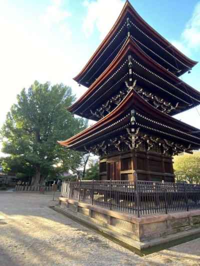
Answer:
<path fill-rule="evenodd" d="M 180 51 L 190 56 L 192 50 L 200 48 L 200 1 L 195 5 L 189 21 L 186 23 L 179 40 L 171 43 Z"/>

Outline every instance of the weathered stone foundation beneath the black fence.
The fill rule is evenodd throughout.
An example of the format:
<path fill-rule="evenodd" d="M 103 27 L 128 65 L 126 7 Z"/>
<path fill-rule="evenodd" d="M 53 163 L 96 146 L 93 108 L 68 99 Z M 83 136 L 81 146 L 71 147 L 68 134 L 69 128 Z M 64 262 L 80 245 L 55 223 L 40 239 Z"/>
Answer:
<path fill-rule="evenodd" d="M 62 197 L 59 208 L 139 250 L 200 233 L 200 210 L 137 218 Z"/>

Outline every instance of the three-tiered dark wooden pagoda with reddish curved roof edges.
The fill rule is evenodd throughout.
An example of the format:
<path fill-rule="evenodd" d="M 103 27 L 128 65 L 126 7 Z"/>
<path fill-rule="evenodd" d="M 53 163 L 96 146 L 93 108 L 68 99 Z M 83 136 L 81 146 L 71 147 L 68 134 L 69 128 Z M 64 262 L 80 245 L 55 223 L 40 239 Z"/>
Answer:
<path fill-rule="evenodd" d="M 88 90 L 68 110 L 96 120 L 65 141 L 100 156 L 101 180 L 174 181 L 172 156 L 200 147 L 200 132 L 172 115 L 200 103 L 178 78 L 192 61 L 126 1 L 115 24 L 74 78 Z"/>

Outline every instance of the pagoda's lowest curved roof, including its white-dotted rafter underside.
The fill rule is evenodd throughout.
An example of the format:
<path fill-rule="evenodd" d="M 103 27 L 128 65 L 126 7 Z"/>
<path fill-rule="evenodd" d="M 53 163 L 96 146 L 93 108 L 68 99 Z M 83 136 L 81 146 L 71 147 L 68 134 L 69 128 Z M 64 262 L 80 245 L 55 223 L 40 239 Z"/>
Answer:
<path fill-rule="evenodd" d="M 146 134 L 162 136 L 164 139 L 180 144 L 191 145 L 192 149 L 200 148 L 200 130 L 187 125 L 167 114 L 164 114 L 144 101 L 133 89 L 120 104 L 94 125 L 65 140 L 58 141 L 60 145 L 75 150 L 84 151 L 85 145 L 98 143 L 109 136 L 130 127 L 131 110 L 135 112 L 135 124 Z"/>

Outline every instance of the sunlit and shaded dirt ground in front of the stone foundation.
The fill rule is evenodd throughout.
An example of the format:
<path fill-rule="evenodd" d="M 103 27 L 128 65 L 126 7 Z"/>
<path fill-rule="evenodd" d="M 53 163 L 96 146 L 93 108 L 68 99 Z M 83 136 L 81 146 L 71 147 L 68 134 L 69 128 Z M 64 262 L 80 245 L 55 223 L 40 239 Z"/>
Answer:
<path fill-rule="evenodd" d="M 51 199 L 0 193 L 0 266 L 200 266 L 200 239 L 139 257 L 48 208 Z"/>

